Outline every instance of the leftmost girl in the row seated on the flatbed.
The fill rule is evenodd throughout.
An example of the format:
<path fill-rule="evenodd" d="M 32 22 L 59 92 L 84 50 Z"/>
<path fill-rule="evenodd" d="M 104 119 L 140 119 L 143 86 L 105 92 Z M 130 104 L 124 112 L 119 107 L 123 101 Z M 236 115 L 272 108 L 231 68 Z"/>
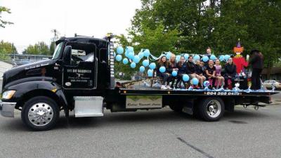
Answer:
<path fill-rule="evenodd" d="M 159 68 L 160 67 L 165 67 L 166 71 L 165 72 L 160 72 Z M 169 85 L 169 78 L 171 77 L 171 75 L 167 72 L 169 68 L 169 63 L 166 60 L 166 56 L 163 55 L 159 60 L 158 60 L 158 65 L 157 65 L 157 77 L 162 77 L 162 86 L 161 89 L 172 89 Z M 166 84 L 166 85 L 165 85 Z"/>

